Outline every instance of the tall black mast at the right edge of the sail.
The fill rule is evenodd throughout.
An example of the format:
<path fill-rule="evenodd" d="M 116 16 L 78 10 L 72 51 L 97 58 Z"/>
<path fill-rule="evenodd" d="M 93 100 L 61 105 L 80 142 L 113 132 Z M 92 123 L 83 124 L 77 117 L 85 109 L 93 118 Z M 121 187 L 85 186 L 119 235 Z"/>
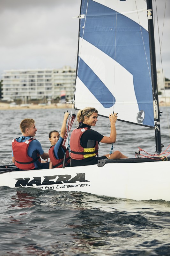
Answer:
<path fill-rule="evenodd" d="M 162 146 L 161 146 L 161 137 L 160 137 L 160 116 L 159 116 L 159 100 L 158 100 L 158 90 L 157 90 L 157 69 L 156 69 L 154 26 L 153 26 L 153 19 L 152 19 L 152 15 L 153 15 L 152 0 L 146 0 L 146 2 L 147 2 L 149 47 L 150 47 L 150 59 L 151 59 L 151 76 L 152 76 L 152 88 L 153 88 L 155 143 L 156 143 L 156 152 L 159 155 L 162 151 Z"/>

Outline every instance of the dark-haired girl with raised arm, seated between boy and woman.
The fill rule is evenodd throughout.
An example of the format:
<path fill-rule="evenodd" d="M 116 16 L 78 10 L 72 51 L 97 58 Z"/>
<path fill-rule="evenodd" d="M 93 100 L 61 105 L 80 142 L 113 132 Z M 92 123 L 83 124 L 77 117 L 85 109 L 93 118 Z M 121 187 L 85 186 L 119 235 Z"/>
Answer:
<path fill-rule="evenodd" d="M 70 166 L 70 155 L 68 149 L 66 149 L 65 146 L 63 146 L 63 140 L 64 136 L 66 133 L 66 123 L 67 123 L 67 118 L 69 116 L 69 113 L 64 114 L 64 119 L 63 119 L 63 125 L 61 128 L 61 132 L 57 131 L 51 131 L 49 132 L 49 141 L 51 142 L 51 147 L 48 151 L 49 153 L 49 158 L 50 158 L 50 164 L 49 164 L 49 169 L 52 168 L 61 168 L 63 167 L 63 158 L 66 153 L 66 162 L 65 166 Z"/>

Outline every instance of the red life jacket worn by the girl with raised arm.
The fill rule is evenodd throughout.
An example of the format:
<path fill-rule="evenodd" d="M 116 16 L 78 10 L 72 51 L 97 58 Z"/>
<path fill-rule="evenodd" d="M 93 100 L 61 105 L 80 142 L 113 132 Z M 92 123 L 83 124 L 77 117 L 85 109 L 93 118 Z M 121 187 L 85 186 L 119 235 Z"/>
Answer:
<path fill-rule="evenodd" d="M 63 167 L 63 160 L 62 159 L 56 159 L 55 155 L 54 155 L 54 146 L 51 146 L 50 149 L 48 150 L 48 154 L 49 154 L 49 158 L 52 162 L 52 165 L 54 166 L 54 168 L 61 168 Z M 64 149 L 64 151 L 66 150 L 66 147 L 62 145 L 62 148 Z M 67 166 L 70 163 L 70 154 L 69 154 L 69 150 L 66 150 L 66 161 L 65 161 L 65 166 Z"/>

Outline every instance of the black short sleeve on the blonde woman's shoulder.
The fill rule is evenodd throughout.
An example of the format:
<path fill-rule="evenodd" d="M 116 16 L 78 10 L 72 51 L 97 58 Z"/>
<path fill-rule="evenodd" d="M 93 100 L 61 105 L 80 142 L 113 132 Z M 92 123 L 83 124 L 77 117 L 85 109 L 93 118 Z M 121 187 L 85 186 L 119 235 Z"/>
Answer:
<path fill-rule="evenodd" d="M 87 147 L 87 141 L 88 140 L 96 140 L 99 141 L 103 139 L 103 135 L 100 134 L 99 132 L 93 131 L 92 129 L 86 130 L 82 136 L 81 136 L 81 144 L 84 148 Z"/>

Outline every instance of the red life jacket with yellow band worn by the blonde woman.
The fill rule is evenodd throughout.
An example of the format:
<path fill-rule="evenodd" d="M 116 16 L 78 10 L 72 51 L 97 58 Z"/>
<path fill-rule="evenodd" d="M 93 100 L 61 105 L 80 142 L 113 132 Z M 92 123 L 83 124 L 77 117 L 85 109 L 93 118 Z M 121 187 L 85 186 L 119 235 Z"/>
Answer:
<path fill-rule="evenodd" d="M 90 128 L 82 128 L 82 129 L 74 129 L 71 133 L 70 137 L 70 156 L 73 159 L 81 160 L 92 156 L 98 155 L 98 141 L 96 141 L 96 145 L 94 148 L 83 148 L 80 145 L 80 138 L 82 134 Z"/>

